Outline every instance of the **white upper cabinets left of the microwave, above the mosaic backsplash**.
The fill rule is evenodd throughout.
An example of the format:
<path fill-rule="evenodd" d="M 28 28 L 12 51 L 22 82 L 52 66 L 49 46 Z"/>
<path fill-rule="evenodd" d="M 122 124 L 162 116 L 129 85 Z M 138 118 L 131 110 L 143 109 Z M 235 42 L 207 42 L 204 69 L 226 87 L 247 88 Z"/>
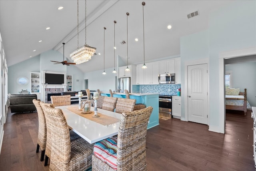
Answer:
<path fill-rule="evenodd" d="M 158 84 L 159 62 L 146 63 L 146 69 L 142 69 L 142 66 L 137 65 L 136 84 Z"/>

